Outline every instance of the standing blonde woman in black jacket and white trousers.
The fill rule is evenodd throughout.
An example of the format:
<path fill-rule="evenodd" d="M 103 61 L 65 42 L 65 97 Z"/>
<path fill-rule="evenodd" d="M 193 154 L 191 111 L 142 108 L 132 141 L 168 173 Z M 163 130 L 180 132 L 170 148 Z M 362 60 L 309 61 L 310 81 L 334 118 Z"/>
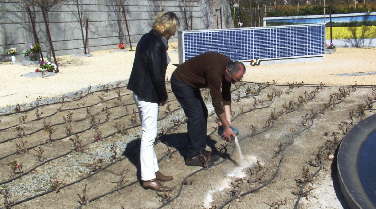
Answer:
<path fill-rule="evenodd" d="M 127 89 L 133 91 L 142 127 L 140 145 L 141 183 L 144 189 L 171 191 L 161 181 L 172 180 L 159 171 L 154 152 L 157 136 L 158 106 L 167 101 L 165 75 L 170 58 L 168 39 L 180 26 L 173 12 L 161 12 L 153 22 L 153 29 L 139 40 Z"/>

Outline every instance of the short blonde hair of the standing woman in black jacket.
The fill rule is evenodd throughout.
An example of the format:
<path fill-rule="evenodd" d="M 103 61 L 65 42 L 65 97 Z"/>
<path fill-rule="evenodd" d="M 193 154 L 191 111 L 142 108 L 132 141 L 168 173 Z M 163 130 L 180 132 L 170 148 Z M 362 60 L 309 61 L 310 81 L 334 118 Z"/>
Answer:
<path fill-rule="evenodd" d="M 179 18 L 174 12 L 161 12 L 153 21 L 153 30 L 159 35 L 173 35 L 180 26 Z"/>

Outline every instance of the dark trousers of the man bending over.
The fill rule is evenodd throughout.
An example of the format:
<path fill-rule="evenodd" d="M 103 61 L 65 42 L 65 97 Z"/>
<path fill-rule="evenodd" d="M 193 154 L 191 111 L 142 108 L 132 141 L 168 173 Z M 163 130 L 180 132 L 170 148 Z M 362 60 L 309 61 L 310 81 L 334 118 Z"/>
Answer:
<path fill-rule="evenodd" d="M 206 148 L 208 109 L 206 109 L 200 89 L 187 85 L 174 75 L 171 76 L 171 89 L 188 119 L 187 158 L 192 158 Z"/>

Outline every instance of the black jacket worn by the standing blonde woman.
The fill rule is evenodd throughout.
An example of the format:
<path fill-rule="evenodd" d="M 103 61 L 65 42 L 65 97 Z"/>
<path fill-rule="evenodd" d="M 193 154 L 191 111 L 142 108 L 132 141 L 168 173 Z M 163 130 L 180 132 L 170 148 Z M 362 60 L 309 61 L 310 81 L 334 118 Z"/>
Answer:
<path fill-rule="evenodd" d="M 148 102 L 159 103 L 167 100 L 166 69 L 166 47 L 161 36 L 150 30 L 137 44 L 127 89 Z"/>

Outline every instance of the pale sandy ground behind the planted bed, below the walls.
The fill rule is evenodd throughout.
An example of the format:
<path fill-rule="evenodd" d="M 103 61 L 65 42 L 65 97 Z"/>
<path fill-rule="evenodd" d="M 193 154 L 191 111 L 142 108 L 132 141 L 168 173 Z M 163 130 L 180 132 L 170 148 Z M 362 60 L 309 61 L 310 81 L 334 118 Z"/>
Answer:
<path fill-rule="evenodd" d="M 167 76 L 179 63 L 177 42 L 170 43 L 171 63 Z M 10 65 L 0 63 L 3 71 L 0 91 L 0 107 L 35 101 L 37 97 L 52 97 L 66 92 L 77 91 L 88 86 L 103 85 L 130 76 L 134 51 L 109 53 L 111 50 L 94 51 L 91 57 L 71 58 L 59 56 L 60 73 L 46 79 L 20 78 L 33 72 L 38 65 Z M 338 76 L 341 73 L 362 73 L 376 71 L 376 48 L 337 48 L 333 54 L 326 54 L 324 62 L 260 65 L 247 67 L 243 80 L 249 82 L 293 83 L 328 85 L 373 85 L 376 75 Z M 373 64 L 372 64 L 373 62 Z"/>

